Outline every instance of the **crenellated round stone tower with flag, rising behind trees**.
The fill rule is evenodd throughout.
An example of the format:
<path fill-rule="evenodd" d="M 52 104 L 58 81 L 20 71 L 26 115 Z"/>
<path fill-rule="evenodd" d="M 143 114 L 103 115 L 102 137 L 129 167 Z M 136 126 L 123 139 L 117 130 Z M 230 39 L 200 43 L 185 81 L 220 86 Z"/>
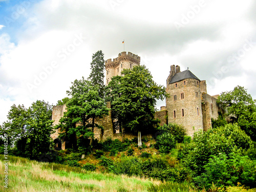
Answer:
<path fill-rule="evenodd" d="M 128 54 L 121 52 L 117 58 L 106 60 L 106 85 L 109 84 L 113 76 L 120 76 L 123 69 L 131 69 L 136 65 L 140 65 L 140 57 L 131 52 L 128 52 Z"/>

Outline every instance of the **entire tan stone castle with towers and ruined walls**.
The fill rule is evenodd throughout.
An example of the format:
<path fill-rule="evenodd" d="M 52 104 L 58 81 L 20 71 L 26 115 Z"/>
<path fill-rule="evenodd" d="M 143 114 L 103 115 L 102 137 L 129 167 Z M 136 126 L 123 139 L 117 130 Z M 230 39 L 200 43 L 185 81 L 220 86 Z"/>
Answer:
<path fill-rule="evenodd" d="M 109 84 L 113 76 L 121 75 L 123 69 L 132 69 L 136 65 L 140 65 L 140 57 L 130 52 L 128 54 L 121 52 L 117 58 L 106 60 L 106 85 Z M 218 95 L 208 95 L 206 81 L 201 81 L 188 69 L 181 72 L 179 66 L 170 66 L 170 73 L 166 80 L 166 92 L 169 94 L 169 97 L 166 98 L 166 106 L 162 106 L 161 111 L 156 112 L 155 117 L 161 120 L 160 125 L 168 122 L 183 125 L 187 135 L 191 137 L 199 130 L 210 129 L 211 118 L 218 118 L 218 112 L 221 111 L 216 102 Z M 54 125 L 59 123 L 59 119 L 65 111 L 65 105 L 54 106 L 52 113 Z M 102 133 L 96 127 L 95 138 L 99 140 L 105 140 L 108 137 L 121 138 L 119 132 L 113 129 L 111 113 L 102 119 L 97 119 L 97 123 L 104 127 L 104 131 Z M 57 130 L 51 135 L 55 143 L 60 143 L 57 140 L 59 131 Z M 134 136 L 127 133 L 125 137 Z M 62 142 L 60 148 L 65 149 L 65 143 Z"/>

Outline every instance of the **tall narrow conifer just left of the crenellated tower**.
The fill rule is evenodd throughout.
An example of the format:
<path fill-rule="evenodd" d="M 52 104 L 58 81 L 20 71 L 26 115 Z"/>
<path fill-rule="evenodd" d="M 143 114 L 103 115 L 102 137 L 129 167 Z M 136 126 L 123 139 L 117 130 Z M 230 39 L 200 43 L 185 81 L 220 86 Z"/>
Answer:
<path fill-rule="evenodd" d="M 91 81 L 92 85 L 99 86 L 99 95 L 101 98 L 104 96 L 104 70 L 105 70 L 105 62 L 104 62 L 104 54 L 102 51 L 97 51 L 92 56 L 91 62 L 91 74 L 88 80 Z"/>

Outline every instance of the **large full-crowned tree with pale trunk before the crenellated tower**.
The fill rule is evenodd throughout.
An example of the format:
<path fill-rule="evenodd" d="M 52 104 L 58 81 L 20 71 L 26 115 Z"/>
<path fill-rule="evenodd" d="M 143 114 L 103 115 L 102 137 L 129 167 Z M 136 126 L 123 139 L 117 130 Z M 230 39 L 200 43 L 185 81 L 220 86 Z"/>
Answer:
<path fill-rule="evenodd" d="M 138 134 L 140 147 L 141 132 L 159 122 L 154 118 L 155 105 L 157 99 L 165 98 L 165 88 L 158 86 L 145 66 L 124 69 L 121 74 L 112 77 L 106 90 L 107 100 L 111 101 L 112 114 L 119 125 Z"/>

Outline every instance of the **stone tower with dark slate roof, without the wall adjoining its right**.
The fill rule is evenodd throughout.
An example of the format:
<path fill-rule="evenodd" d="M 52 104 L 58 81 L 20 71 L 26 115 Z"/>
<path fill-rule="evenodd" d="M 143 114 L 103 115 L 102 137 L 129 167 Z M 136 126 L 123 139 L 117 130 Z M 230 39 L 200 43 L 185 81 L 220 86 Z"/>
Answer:
<path fill-rule="evenodd" d="M 191 137 L 203 130 L 200 79 L 189 70 L 180 72 L 179 66 L 176 66 L 166 92 L 170 96 L 166 98 L 168 122 L 182 124 Z"/>

